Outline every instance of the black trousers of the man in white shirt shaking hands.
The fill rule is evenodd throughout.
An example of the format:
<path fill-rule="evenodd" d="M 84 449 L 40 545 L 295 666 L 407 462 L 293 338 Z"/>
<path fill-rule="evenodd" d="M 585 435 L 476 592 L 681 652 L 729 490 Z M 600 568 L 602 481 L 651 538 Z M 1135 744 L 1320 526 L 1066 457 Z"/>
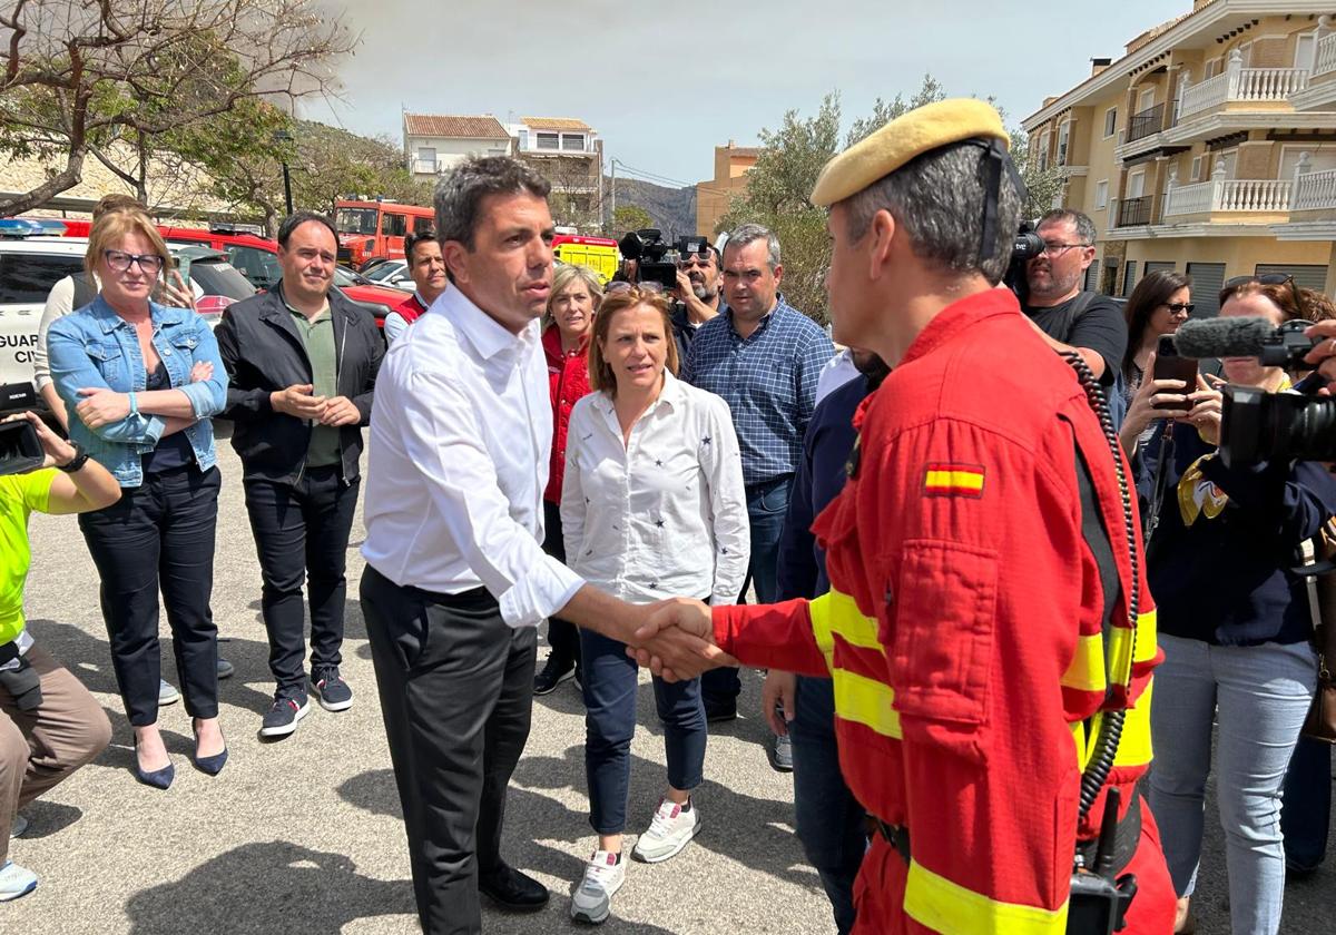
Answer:
<path fill-rule="evenodd" d="M 370 565 L 362 614 L 425 935 L 482 931 L 478 876 L 501 868 L 506 785 L 529 739 L 537 633 L 478 588 L 401 588 Z"/>

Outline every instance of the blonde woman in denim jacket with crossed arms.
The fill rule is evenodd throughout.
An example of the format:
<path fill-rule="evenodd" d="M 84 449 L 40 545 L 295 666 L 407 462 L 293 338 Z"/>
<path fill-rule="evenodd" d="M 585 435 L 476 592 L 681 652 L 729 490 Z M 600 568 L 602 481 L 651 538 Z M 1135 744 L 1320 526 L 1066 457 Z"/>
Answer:
<path fill-rule="evenodd" d="M 112 667 L 135 731 L 135 777 L 163 789 L 174 767 L 158 731 L 159 589 L 195 765 L 216 775 L 227 759 L 208 608 L 220 486 L 210 417 L 223 409 L 227 375 L 199 315 L 150 301 L 168 256 L 147 215 L 103 215 L 84 258 L 102 293 L 48 337 L 69 437 L 123 490 L 114 506 L 81 514 L 79 526 L 102 576 Z"/>

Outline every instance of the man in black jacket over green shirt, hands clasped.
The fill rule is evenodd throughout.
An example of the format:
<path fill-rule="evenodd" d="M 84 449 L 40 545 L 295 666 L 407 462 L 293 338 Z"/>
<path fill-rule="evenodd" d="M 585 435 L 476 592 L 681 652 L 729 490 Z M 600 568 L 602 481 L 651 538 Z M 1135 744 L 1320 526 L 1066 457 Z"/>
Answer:
<path fill-rule="evenodd" d="M 299 211 L 278 231 L 283 279 L 223 313 L 232 447 L 259 552 L 269 667 L 278 681 L 261 735 L 297 729 L 307 711 L 302 582 L 311 605 L 310 685 L 326 711 L 353 692 L 339 677 L 343 576 L 385 342 L 369 311 L 331 290 L 338 238 L 329 218 Z"/>

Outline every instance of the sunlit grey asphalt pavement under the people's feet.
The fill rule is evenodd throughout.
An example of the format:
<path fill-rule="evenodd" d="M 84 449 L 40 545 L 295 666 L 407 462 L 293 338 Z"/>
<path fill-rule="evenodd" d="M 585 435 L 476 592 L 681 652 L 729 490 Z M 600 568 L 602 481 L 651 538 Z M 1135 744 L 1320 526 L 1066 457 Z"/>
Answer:
<path fill-rule="evenodd" d="M 357 604 L 361 513 L 349 544 L 343 644 L 343 676 L 355 692 L 354 707 L 334 715 L 313 703 L 297 733 L 261 743 L 257 731 L 273 692 L 269 646 L 239 466 L 226 442 L 219 443 L 219 466 L 214 616 L 226 638 L 222 654 L 236 665 L 236 675 L 220 685 L 231 757 L 216 779 L 190 765 L 190 720 L 179 703 L 160 713 L 175 783 L 160 792 L 132 779 L 131 731 L 115 692 L 96 573 L 76 520 L 32 520 L 29 628 L 95 693 L 111 717 L 114 739 L 95 763 L 25 809 L 32 824 L 12 843 L 11 856 L 33 870 L 40 886 L 0 906 L 0 932 L 418 931 L 403 824 Z M 166 636 L 166 618 L 162 630 Z M 540 663 L 544 653 L 540 648 Z M 164 676 L 179 684 L 166 642 L 163 656 Z M 667 863 L 632 863 L 603 931 L 834 932 L 816 874 L 794 836 L 792 780 L 767 764 L 762 744 L 768 729 L 759 715 L 755 673 L 744 677 L 739 709 L 737 721 L 711 733 L 705 783 L 696 793 L 704 821 L 700 836 Z M 640 693 L 639 725 L 629 833 L 648 825 L 665 781 L 648 685 Z M 485 931 L 538 935 L 572 928 L 570 891 L 595 844 L 582 740 L 582 708 L 570 683 L 534 701 L 533 732 L 510 788 L 504 854 L 545 883 L 553 898 L 537 915 L 485 910 Z M 1198 931 L 1228 932 L 1224 844 L 1213 803 L 1206 825 Z M 1332 856 L 1315 878 L 1291 886 L 1284 932 L 1336 930 Z"/>

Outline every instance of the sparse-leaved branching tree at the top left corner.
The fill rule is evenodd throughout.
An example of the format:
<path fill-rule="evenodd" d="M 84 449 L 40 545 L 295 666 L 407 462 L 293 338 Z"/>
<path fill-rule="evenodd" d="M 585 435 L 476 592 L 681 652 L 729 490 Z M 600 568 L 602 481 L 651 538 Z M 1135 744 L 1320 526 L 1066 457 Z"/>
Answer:
<path fill-rule="evenodd" d="M 323 94 L 355 39 L 318 11 L 317 0 L 0 0 L 0 151 L 63 162 L 0 199 L 0 216 L 76 186 L 90 155 L 143 196 L 150 162 L 179 131 L 243 102 Z"/>

